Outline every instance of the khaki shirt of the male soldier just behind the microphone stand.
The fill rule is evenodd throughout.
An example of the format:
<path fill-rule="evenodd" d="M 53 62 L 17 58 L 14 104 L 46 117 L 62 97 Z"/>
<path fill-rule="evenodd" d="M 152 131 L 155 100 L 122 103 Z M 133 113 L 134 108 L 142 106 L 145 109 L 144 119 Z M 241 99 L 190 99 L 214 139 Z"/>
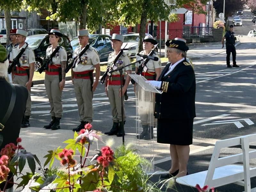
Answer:
<path fill-rule="evenodd" d="M 110 66 L 112 64 L 112 61 L 115 59 L 116 55 L 115 52 L 112 52 L 109 54 L 108 56 L 108 66 Z M 121 67 L 124 65 L 128 65 L 131 63 L 131 60 L 129 58 L 129 56 L 126 53 L 123 53 L 119 59 L 116 62 L 116 67 Z M 132 65 L 129 65 L 128 67 L 125 67 L 123 70 L 123 75 L 125 74 L 125 71 L 127 70 L 132 70 Z M 120 75 L 119 71 L 115 71 L 113 73 L 111 73 L 111 75 Z"/>

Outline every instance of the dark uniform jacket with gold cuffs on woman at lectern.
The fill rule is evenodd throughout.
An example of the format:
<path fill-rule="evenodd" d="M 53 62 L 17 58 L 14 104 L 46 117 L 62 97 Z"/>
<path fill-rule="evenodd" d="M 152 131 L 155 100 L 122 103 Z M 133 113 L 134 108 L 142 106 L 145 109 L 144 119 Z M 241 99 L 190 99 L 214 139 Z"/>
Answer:
<path fill-rule="evenodd" d="M 156 94 L 154 116 L 163 119 L 190 119 L 196 117 L 196 78 L 192 66 L 182 60 L 166 76 L 167 64 L 158 78 L 162 81 L 162 94 Z"/>

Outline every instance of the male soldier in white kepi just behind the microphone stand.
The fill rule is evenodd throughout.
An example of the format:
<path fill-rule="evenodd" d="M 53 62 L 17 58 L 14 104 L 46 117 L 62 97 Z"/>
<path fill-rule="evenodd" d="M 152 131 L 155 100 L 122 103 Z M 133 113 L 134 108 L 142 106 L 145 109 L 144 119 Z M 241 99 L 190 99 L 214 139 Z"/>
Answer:
<path fill-rule="evenodd" d="M 115 59 L 116 55 L 121 49 L 121 46 L 124 42 L 124 36 L 113 34 L 112 36 L 112 48 L 114 52 L 110 53 L 108 56 L 108 66 L 112 64 L 112 61 Z M 123 53 L 117 62 L 115 63 L 116 67 L 128 65 L 131 63 L 129 56 L 126 53 Z M 126 91 L 131 77 L 128 74 L 132 73 L 132 66 L 125 67 L 123 69 L 123 78 L 125 73 L 127 73 L 125 84 L 123 86 L 123 94 Z M 110 76 L 111 75 L 111 76 Z M 112 120 L 113 126 L 109 132 L 105 132 L 106 135 L 116 135 L 117 137 L 123 136 L 123 127 L 122 127 L 122 114 L 121 114 L 121 88 L 120 88 L 120 73 L 119 71 L 113 72 L 106 77 L 105 81 L 105 92 L 108 95 L 111 113 L 112 113 Z M 124 100 L 123 106 L 124 106 Z M 126 120 L 125 116 L 125 108 L 124 108 L 124 123 Z"/>

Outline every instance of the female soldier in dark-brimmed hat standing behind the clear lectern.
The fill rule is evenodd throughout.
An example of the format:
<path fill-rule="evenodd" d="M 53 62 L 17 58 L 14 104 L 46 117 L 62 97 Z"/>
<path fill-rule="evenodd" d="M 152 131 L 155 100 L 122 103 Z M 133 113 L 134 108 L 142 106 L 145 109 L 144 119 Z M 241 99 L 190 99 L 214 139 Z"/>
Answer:
<path fill-rule="evenodd" d="M 143 51 L 140 52 L 140 54 L 144 54 L 144 55 L 149 55 L 151 51 L 154 52 L 155 46 L 157 42 L 153 37 L 150 36 L 146 36 L 143 39 Z M 153 57 L 158 57 L 158 54 L 156 52 L 154 52 L 151 56 Z M 140 56 L 137 56 L 136 60 L 141 60 L 142 58 Z M 140 64 L 136 63 L 135 65 L 135 72 L 137 72 L 138 67 Z M 161 60 L 160 58 L 158 59 L 158 61 L 154 61 L 154 60 L 148 60 L 148 62 L 146 63 L 146 67 L 148 68 L 148 70 L 142 71 L 141 75 L 144 76 L 148 81 L 152 81 L 152 80 L 156 80 L 158 79 L 158 77 L 161 74 Z M 134 84 L 135 85 L 135 84 Z M 134 86 L 135 88 L 135 86 Z M 134 89 L 135 91 L 135 89 Z M 139 90 L 140 92 L 140 90 Z M 150 95 L 148 94 L 148 92 L 146 92 L 146 95 L 144 95 L 143 100 L 149 100 Z M 153 98 L 153 100 L 155 100 L 155 98 Z M 154 103 L 155 101 L 153 101 L 153 108 L 154 108 Z M 148 107 L 144 106 L 143 111 L 140 110 L 140 122 L 143 128 L 143 131 L 140 133 L 140 135 L 136 135 L 137 139 L 145 139 L 145 140 L 149 140 L 149 139 L 153 139 L 154 135 L 153 135 L 153 125 L 150 124 L 150 115 L 149 115 L 149 111 L 151 111 L 150 109 L 148 109 Z M 152 111 L 153 111 L 152 108 Z M 153 118 L 153 117 L 152 117 Z M 156 125 L 156 120 L 154 120 L 154 126 Z"/>

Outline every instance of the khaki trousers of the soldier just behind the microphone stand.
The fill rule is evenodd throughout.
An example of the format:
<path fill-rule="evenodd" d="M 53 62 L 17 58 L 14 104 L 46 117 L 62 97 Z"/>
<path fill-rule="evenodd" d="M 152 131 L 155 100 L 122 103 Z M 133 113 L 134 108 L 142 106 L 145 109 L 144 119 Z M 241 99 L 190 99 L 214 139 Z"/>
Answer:
<path fill-rule="evenodd" d="M 113 122 L 122 121 L 121 113 L 121 97 L 119 97 L 120 85 L 108 85 L 108 100 L 111 107 L 111 114 Z M 124 106 L 124 96 L 123 96 L 123 106 Z M 124 121 L 126 120 L 125 108 L 124 108 Z"/>

